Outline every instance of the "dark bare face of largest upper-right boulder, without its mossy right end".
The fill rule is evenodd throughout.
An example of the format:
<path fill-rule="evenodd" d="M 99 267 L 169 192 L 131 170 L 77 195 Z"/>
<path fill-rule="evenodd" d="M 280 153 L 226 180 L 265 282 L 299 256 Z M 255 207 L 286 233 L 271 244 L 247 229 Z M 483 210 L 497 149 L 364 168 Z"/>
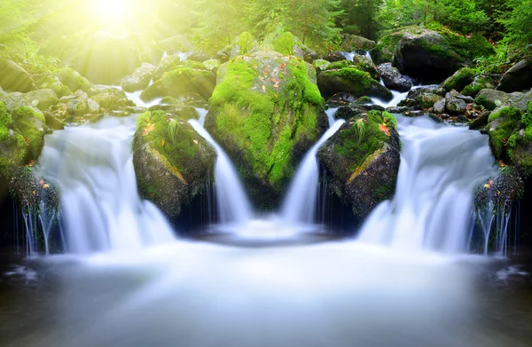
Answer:
<path fill-rule="evenodd" d="M 465 67 L 467 59 L 450 47 L 443 35 L 418 28 L 403 31 L 395 47 L 393 64 L 403 74 L 441 81 Z"/>

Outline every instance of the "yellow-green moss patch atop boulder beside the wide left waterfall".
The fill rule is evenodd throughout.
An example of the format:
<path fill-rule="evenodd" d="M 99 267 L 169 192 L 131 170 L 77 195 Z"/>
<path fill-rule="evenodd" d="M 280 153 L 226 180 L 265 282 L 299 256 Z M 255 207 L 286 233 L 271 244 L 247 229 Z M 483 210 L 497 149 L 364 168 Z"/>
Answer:
<path fill-rule="evenodd" d="M 190 162 L 196 158 L 200 147 L 200 135 L 184 120 L 164 111 L 147 111 L 137 119 L 137 131 L 145 137 L 145 142 L 163 154 L 168 162 L 183 175 Z M 196 141 L 196 142 L 194 142 Z"/>

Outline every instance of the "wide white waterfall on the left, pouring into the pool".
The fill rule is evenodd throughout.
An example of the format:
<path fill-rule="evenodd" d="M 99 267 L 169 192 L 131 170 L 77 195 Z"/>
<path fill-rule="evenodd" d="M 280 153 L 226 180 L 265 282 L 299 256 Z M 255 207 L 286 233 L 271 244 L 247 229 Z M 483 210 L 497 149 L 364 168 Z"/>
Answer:
<path fill-rule="evenodd" d="M 38 170 L 59 187 L 68 252 L 130 251 L 174 240 L 159 209 L 138 197 L 135 123 L 107 117 L 46 136 Z"/>

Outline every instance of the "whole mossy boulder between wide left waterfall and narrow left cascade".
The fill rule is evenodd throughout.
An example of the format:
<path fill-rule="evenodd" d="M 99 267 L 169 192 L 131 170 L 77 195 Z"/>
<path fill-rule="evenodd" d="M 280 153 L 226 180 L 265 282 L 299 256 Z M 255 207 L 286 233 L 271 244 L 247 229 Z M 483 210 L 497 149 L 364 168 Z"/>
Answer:
<path fill-rule="evenodd" d="M 138 192 L 172 222 L 205 189 L 215 152 L 185 120 L 164 111 L 142 114 L 133 138 Z"/>

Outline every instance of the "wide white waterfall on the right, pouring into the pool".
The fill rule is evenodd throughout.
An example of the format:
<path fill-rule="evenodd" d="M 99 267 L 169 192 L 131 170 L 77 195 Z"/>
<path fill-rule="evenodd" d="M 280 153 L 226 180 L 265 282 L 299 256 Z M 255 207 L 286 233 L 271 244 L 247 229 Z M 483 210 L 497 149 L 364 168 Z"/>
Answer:
<path fill-rule="evenodd" d="M 398 129 L 395 196 L 373 210 L 359 240 L 403 251 L 466 251 L 473 188 L 496 170 L 488 137 L 427 117 L 398 116 Z"/>

